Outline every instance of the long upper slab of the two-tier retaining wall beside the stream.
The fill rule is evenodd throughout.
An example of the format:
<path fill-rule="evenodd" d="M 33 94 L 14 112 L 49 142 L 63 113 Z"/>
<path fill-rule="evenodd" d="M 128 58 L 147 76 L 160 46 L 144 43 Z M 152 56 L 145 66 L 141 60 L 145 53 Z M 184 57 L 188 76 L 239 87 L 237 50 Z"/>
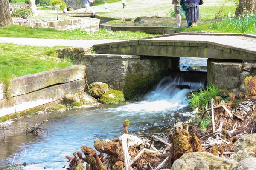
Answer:
<path fill-rule="evenodd" d="M 85 69 L 84 65 L 75 65 L 11 79 L 9 88 L 10 97 L 27 94 L 52 85 L 84 79 Z"/>

